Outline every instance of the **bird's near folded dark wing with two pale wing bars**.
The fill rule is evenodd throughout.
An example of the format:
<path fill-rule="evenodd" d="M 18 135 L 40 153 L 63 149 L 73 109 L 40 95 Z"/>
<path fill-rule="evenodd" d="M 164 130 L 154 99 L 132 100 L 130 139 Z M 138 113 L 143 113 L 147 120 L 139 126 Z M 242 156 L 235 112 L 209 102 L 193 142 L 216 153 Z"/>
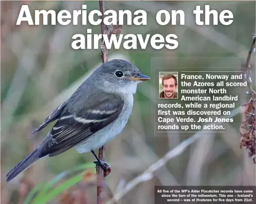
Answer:
<path fill-rule="evenodd" d="M 123 106 L 121 98 L 107 98 L 98 101 L 91 108 L 83 109 L 79 114 L 66 110 L 43 142 L 40 157 L 65 152 L 103 129 L 120 115 Z"/>

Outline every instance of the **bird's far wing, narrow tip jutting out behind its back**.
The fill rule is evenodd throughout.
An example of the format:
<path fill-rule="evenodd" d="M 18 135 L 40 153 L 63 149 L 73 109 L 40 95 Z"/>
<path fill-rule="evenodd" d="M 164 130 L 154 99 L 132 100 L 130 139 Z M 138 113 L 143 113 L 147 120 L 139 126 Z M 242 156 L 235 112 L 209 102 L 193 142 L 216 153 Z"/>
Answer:
<path fill-rule="evenodd" d="M 32 136 L 33 134 L 35 134 L 36 132 L 39 132 L 40 130 L 42 130 L 43 128 L 45 128 L 47 125 L 49 125 L 52 121 L 58 119 L 58 117 L 60 117 L 63 108 L 66 106 L 67 101 L 64 101 L 60 106 L 58 106 L 57 108 L 55 108 L 45 119 L 45 121 L 43 121 L 43 123 L 38 126 L 30 135 Z"/>

